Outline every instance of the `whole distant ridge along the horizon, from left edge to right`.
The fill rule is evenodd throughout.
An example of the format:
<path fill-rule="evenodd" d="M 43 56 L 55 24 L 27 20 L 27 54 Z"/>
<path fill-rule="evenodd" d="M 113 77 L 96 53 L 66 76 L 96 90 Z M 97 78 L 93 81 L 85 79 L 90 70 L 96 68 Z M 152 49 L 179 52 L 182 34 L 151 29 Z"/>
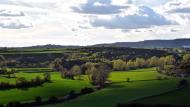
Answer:
<path fill-rule="evenodd" d="M 105 44 L 95 44 L 87 46 L 79 45 L 36 45 L 28 47 L 15 47 L 15 48 L 81 48 L 81 47 L 130 47 L 130 48 L 190 48 L 190 38 L 186 39 L 174 39 L 174 40 L 145 40 L 139 42 L 116 42 L 116 43 L 105 43 Z M 2 49 L 4 47 L 0 47 Z M 11 48 L 11 47 L 8 47 Z"/>

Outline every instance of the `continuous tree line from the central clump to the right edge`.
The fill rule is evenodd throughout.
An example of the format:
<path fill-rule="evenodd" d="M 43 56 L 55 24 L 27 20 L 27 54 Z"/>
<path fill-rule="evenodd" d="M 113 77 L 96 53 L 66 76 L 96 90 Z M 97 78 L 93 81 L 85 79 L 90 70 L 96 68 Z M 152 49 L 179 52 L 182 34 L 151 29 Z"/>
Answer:
<path fill-rule="evenodd" d="M 189 61 L 190 55 L 184 55 L 182 59 L 176 58 L 173 55 L 164 57 L 153 56 L 151 58 L 136 58 L 135 60 L 124 61 L 121 59 L 106 61 L 106 62 L 73 62 L 65 58 L 56 59 L 52 65 L 54 70 L 59 71 L 62 78 L 67 79 L 81 79 L 81 75 L 87 75 L 88 80 L 93 85 L 104 86 L 110 71 L 127 71 L 139 68 L 156 67 L 160 73 L 168 74 L 173 71 L 168 71 L 171 66 L 187 60 Z"/>

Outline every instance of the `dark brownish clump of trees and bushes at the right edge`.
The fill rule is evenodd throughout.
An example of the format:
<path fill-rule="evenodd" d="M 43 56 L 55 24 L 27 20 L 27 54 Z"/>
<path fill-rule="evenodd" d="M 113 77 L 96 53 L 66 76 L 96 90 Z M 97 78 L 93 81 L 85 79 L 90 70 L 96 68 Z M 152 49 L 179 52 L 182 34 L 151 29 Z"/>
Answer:
<path fill-rule="evenodd" d="M 170 63 L 162 63 L 157 71 L 167 75 L 186 77 L 190 75 L 190 54 L 183 55 L 181 60 L 169 58 Z"/>

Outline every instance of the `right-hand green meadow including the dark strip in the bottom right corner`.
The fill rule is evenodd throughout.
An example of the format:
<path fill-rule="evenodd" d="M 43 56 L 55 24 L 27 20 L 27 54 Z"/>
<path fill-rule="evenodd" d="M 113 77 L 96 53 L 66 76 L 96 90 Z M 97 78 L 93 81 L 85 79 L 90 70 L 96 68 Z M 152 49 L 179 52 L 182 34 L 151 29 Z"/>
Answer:
<path fill-rule="evenodd" d="M 109 78 L 113 82 L 111 86 L 66 103 L 44 107 L 115 107 L 118 103 L 131 103 L 147 96 L 157 95 L 177 88 L 179 78 L 168 77 L 168 79 L 157 80 L 158 76 L 162 75 L 155 72 L 154 68 L 112 72 Z M 126 82 L 126 78 L 130 78 L 131 82 Z M 170 103 L 177 105 L 183 105 L 186 102 L 186 104 L 190 104 L 187 102 L 190 98 L 188 89 L 142 100 L 142 102 L 147 104 L 153 104 L 154 102 L 154 104 Z M 181 98 L 186 98 L 186 100 L 181 101 Z"/>

